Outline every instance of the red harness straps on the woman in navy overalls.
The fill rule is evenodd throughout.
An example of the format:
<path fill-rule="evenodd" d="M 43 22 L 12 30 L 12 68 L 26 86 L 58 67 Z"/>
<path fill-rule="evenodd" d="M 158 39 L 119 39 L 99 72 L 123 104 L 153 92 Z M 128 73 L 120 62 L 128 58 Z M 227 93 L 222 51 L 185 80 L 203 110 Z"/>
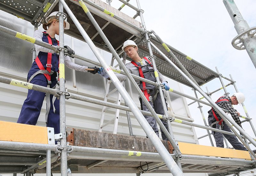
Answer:
<path fill-rule="evenodd" d="M 47 34 L 46 32 L 43 32 L 46 34 L 47 38 L 48 38 L 48 44 L 52 44 L 52 38 L 49 34 Z M 59 41 L 57 40 L 58 46 L 59 46 Z M 43 64 L 41 63 L 40 59 L 38 58 L 38 56 L 36 57 L 36 64 L 38 66 L 38 68 L 40 70 L 45 70 Z M 51 84 L 51 69 L 52 69 L 52 53 L 48 52 L 47 55 L 47 63 L 46 63 L 46 70 L 49 72 L 49 74 L 44 74 L 44 76 L 46 77 L 46 79 L 48 80 L 48 84 Z"/>

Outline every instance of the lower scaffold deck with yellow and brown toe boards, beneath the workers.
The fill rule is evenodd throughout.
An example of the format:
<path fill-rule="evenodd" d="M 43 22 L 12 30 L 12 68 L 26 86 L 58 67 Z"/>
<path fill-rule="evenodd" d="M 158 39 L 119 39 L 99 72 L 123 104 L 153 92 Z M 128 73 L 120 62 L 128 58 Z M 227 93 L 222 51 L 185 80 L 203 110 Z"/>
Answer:
<path fill-rule="evenodd" d="M 4 149 L 1 146 L 10 142 L 17 143 L 17 146 L 32 146 L 31 142 L 38 142 L 39 134 L 47 136 L 47 127 L 3 121 L 0 123 L 5 127 L 0 130 L 0 173 L 46 173 L 45 151 L 32 150 L 32 147 L 30 150 L 16 150 L 13 147 Z M 15 126 L 16 129 L 12 136 L 6 131 L 10 126 Z M 28 131 L 33 136 L 28 136 Z M 23 138 L 17 139 L 17 135 Z M 46 137 L 41 142 L 52 147 L 52 173 L 60 172 L 60 146 L 45 144 L 47 141 Z M 70 148 L 68 165 L 72 173 L 170 172 L 147 138 L 67 128 L 67 141 Z M 162 143 L 174 158 L 170 142 L 162 140 Z M 178 142 L 178 146 L 183 154 L 180 160 L 183 172 L 218 175 L 220 172 L 230 174 L 254 168 L 254 162 L 247 151 L 184 142 Z"/>

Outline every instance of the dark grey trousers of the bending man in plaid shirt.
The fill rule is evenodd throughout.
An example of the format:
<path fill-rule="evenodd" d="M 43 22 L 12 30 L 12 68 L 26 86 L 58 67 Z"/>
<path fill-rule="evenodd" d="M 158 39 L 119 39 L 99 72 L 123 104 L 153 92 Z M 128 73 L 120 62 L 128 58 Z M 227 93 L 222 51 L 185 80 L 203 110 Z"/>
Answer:
<path fill-rule="evenodd" d="M 208 123 L 209 123 L 210 126 L 215 121 L 216 120 L 215 120 L 214 116 L 209 116 L 208 117 Z M 225 122 L 222 122 L 222 124 L 223 124 L 222 130 L 227 131 L 227 132 L 232 132 L 231 129 L 229 128 L 229 126 Z M 220 129 L 220 125 L 219 124 L 214 124 L 212 126 L 212 128 Z M 236 136 L 232 136 L 232 135 L 229 135 L 229 134 L 223 134 L 221 132 L 214 132 L 214 131 L 212 131 L 212 135 L 215 139 L 216 147 L 224 148 L 223 136 L 225 136 L 225 138 L 228 140 L 228 142 L 236 150 L 245 150 L 245 151 L 247 151 L 247 149 L 244 147 L 244 145 L 238 141 Z"/>

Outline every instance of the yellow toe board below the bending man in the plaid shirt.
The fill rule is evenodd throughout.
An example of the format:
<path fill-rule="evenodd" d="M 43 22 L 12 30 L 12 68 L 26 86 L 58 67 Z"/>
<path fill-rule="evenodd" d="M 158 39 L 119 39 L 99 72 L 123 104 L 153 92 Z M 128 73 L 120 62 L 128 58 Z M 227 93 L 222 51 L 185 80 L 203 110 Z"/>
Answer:
<path fill-rule="evenodd" d="M 219 156 L 228 158 L 251 159 L 248 151 L 204 146 L 198 144 L 189 144 L 184 142 L 178 142 L 178 144 L 180 147 L 180 152 L 186 155 Z"/>

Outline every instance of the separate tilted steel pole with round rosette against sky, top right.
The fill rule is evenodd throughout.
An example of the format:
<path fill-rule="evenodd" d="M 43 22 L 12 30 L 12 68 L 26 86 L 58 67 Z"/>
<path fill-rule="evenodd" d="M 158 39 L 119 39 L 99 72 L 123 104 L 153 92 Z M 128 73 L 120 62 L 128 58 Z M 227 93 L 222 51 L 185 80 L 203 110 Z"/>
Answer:
<path fill-rule="evenodd" d="M 223 3 L 235 25 L 235 29 L 238 34 L 238 36 L 233 39 L 232 45 L 238 50 L 246 49 L 254 67 L 256 68 L 256 38 L 254 36 L 256 28 L 249 27 L 247 21 L 244 20 L 242 14 L 237 8 L 234 0 L 223 0 Z M 237 40 L 239 40 L 239 42 L 236 43 Z"/>

